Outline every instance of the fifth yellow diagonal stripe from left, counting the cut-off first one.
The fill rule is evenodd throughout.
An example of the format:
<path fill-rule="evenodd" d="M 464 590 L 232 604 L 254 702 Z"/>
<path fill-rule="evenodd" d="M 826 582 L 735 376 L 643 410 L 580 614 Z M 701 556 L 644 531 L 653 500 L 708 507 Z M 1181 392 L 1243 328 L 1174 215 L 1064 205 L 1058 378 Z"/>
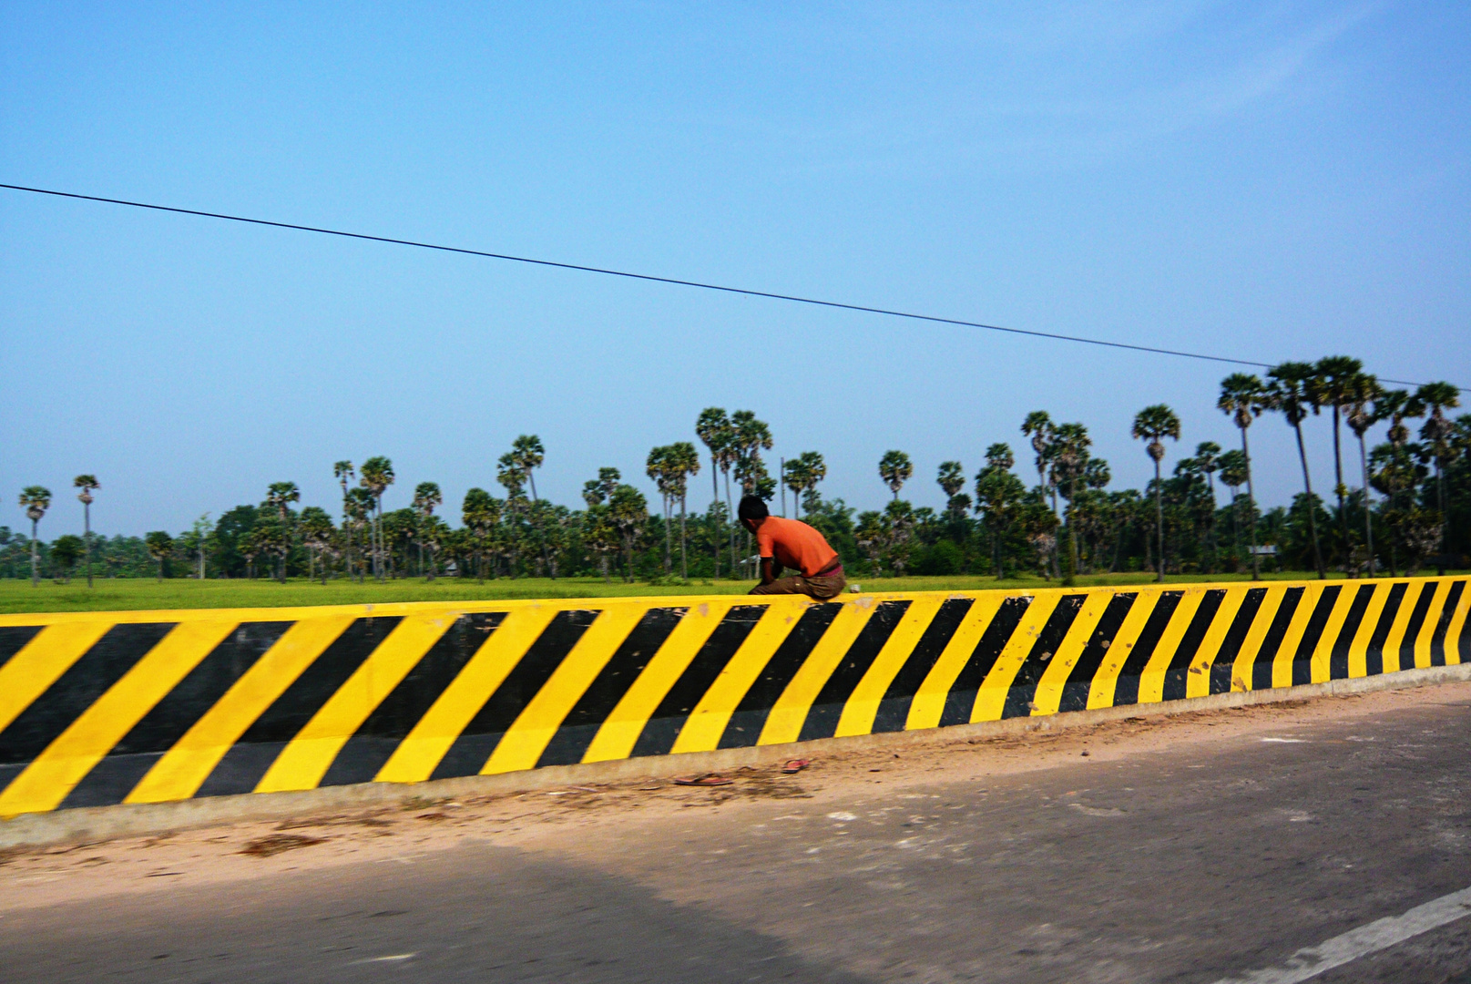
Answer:
<path fill-rule="evenodd" d="M 531 643 L 562 610 L 556 605 L 510 609 L 506 621 L 481 644 L 455 681 L 424 713 L 413 731 L 374 777 L 377 782 L 422 782 L 480 713 L 496 688 L 525 656 Z"/>

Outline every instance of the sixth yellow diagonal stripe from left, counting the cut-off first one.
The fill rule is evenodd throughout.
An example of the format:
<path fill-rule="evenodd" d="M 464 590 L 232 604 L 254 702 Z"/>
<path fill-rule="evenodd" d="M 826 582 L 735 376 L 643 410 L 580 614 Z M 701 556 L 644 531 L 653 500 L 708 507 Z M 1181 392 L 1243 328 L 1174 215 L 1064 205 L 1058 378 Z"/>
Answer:
<path fill-rule="evenodd" d="M 537 759 L 546 752 L 547 743 L 566 719 L 572 706 L 587 693 L 597 674 L 602 672 L 650 607 L 646 605 L 610 605 L 603 609 L 583 632 L 583 637 L 577 640 L 577 646 L 568 652 L 556 672 L 537 691 L 537 696 L 527 702 L 525 709 L 516 715 L 481 774 L 534 769 Z"/>

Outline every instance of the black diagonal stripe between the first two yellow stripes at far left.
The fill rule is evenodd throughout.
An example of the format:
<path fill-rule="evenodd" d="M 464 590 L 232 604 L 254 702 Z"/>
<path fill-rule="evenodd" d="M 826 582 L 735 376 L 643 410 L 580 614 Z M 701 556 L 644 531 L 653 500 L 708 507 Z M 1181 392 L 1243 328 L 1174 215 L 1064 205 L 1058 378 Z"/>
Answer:
<path fill-rule="evenodd" d="M 0 790 L 159 644 L 175 622 L 113 625 L 0 731 Z"/>

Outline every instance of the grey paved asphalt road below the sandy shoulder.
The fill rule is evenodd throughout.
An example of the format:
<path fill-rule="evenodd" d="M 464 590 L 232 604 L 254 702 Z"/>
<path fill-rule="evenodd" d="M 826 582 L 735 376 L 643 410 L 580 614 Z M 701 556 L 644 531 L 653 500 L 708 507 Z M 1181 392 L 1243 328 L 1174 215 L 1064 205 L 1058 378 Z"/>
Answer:
<path fill-rule="evenodd" d="M 811 799 L 12 908 L 0 978 L 1214 984 L 1471 887 L 1468 762 L 1468 685 L 880 782 L 900 760 Z M 1471 918 L 1312 980 L 1471 984 Z"/>

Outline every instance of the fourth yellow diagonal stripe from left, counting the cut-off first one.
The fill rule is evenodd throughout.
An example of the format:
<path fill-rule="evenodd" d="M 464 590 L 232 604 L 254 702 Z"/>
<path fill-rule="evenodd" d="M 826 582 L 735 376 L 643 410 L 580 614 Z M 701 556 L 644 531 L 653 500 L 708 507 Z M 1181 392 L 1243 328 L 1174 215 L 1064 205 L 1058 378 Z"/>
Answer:
<path fill-rule="evenodd" d="M 456 613 L 412 615 L 378 643 L 372 655 L 337 688 L 302 731 L 281 750 L 256 784 L 257 793 L 310 790 L 327 775 L 363 721 L 382 699 L 409 675 L 440 635 L 455 624 Z"/>

